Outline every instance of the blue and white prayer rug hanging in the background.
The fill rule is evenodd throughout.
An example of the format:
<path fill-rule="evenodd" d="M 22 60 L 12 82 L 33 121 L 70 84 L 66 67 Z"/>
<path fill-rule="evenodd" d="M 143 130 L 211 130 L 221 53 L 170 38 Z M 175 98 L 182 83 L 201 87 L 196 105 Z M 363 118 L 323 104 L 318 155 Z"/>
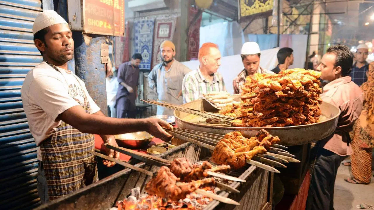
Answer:
<path fill-rule="evenodd" d="M 135 53 L 140 53 L 143 58 L 140 69 L 151 69 L 153 28 L 154 19 L 134 21 L 134 49 Z"/>

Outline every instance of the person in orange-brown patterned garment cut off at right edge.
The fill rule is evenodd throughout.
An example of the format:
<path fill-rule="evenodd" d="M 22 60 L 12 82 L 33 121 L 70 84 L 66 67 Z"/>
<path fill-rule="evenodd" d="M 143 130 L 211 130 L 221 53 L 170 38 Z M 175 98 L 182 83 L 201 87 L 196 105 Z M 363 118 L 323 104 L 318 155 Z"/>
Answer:
<path fill-rule="evenodd" d="M 368 80 L 361 85 L 364 91 L 364 108 L 350 132 L 353 154 L 351 167 L 353 177 L 344 179 L 354 184 L 371 181 L 371 152 L 374 148 L 374 62 L 369 64 Z"/>

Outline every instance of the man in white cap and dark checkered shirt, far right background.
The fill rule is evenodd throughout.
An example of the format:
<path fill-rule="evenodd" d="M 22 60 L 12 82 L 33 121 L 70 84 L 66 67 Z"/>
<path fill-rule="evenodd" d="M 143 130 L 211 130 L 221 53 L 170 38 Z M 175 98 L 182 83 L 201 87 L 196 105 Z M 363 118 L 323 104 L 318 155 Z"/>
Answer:
<path fill-rule="evenodd" d="M 350 77 L 352 81 L 358 86 L 361 86 L 362 83 L 368 80 L 367 72 L 369 69 L 369 64 L 366 62 L 368 57 L 369 48 L 366 44 L 360 44 L 357 46 L 356 51 L 356 63 L 353 64 L 352 71 L 350 72 Z"/>

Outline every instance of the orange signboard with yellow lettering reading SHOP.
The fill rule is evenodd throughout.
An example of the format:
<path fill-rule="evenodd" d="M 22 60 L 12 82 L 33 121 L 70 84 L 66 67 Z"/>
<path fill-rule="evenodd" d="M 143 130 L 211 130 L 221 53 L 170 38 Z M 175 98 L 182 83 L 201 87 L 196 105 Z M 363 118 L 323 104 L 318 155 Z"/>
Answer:
<path fill-rule="evenodd" d="M 123 37 L 125 0 L 83 0 L 83 31 Z"/>

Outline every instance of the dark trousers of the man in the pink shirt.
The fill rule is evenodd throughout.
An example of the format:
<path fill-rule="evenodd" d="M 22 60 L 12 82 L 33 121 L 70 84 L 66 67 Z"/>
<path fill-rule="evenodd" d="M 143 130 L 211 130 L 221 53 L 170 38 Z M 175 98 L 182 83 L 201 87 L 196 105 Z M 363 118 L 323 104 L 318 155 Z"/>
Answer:
<path fill-rule="evenodd" d="M 310 178 L 306 210 L 334 210 L 334 185 L 340 166 L 347 156 L 340 156 L 324 148 L 315 146 L 316 163 Z"/>

